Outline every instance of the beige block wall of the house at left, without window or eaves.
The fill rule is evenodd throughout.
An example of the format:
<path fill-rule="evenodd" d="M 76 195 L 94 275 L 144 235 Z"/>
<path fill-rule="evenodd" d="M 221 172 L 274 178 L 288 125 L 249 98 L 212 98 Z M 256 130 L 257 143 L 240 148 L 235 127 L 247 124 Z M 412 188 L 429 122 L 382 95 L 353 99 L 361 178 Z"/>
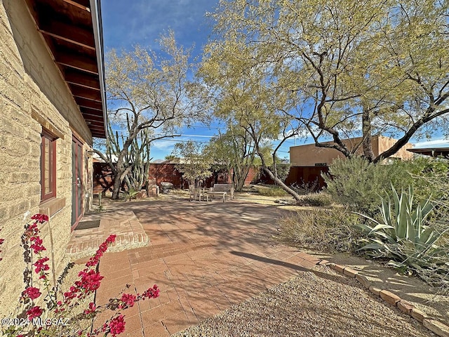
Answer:
<path fill-rule="evenodd" d="M 88 126 L 24 0 L 0 1 L 0 111 L 0 237 L 5 239 L 0 253 L 0 317 L 4 317 L 15 308 L 24 286 L 20 235 L 29 220 L 26 214 L 43 209 L 39 206 L 42 125 L 61 135 L 57 140 L 56 197 L 65 206 L 42 231 L 51 257 L 52 230 L 57 275 L 67 264 L 65 249 L 71 233 L 72 130 L 82 138 L 85 150 L 92 144 Z M 86 174 L 83 179 L 85 186 L 90 186 Z"/>

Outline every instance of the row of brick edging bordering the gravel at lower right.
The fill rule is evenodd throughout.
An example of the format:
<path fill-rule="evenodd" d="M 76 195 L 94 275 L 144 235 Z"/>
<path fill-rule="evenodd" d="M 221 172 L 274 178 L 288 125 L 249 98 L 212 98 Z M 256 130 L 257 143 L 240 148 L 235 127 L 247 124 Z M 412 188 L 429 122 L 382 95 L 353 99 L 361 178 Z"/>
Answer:
<path fill-rule="evenodd" d="M 340 272 L 340 274 L 356 279 L 366 289 L 369 289 L 371 293 L 374 293 L 375 295 L 382 298 L 382 300 L 384 300 L 385 302 L 394 305 L 402 312 L 410 315 L 410 317 L 413 317 L 418 322 L 421 322 L 422 325 L 424 325 L 433 333 L 436 333 L 436 335 L 440 337 L 449 337 L 449 326 L 429 317 L 425 312 L 422 312 L 421 310 L 415 308 L 415 305 L 401 299 L 399 296 L 391 293 L 391 291 L 377 288 L 377 286 L 371 284 L 368 277 L 359 274 L 358 271 L 353 270 L 346 265 L 337 265 L 335 263 L 330 263 L 328 260 L 321 260 L 319 262 L 319 265 L 326 265 L 330 267 L 330 269 L 335 270 L 336 272 Z"/>

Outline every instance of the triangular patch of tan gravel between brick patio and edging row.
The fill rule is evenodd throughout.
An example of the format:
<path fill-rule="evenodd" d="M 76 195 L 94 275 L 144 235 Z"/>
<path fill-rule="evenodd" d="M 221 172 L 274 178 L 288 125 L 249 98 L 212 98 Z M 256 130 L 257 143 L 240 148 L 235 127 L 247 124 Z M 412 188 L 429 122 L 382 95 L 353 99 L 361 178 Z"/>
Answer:
<path fill-rule="evenodd" d="M 363 289 L 316 266 L 173 337 L 436 336 Z"/>

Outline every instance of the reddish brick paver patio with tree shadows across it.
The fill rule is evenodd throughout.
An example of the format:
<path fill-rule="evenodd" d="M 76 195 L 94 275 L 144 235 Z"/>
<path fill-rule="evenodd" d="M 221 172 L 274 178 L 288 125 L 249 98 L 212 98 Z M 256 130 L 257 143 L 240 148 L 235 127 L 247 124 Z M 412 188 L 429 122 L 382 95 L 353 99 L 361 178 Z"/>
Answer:
<path fill-rule="evenodd" d="M 125 311 L 124 336 L 170 336 L 318 262 L 272 239 L 283 213 L 276 206 L 170 199 L 126 207 L 140 220 L 150 243 L 105 254 L 96 303 L 107 303 L 126 284 L 126 292 L 142 293 L 157 284 L 161 293 Z"/>

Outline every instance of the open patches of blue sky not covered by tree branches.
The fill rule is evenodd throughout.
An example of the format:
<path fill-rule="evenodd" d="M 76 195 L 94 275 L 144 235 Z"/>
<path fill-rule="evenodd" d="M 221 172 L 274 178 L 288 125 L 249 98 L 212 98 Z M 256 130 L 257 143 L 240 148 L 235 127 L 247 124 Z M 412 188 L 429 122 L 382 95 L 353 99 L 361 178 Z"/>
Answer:
<path fill-rule="evenodd" d="M 201 48 L 211 33 L 206 12 L 213 12 L 218 0 L 102 0 L 102 23 L 105 52 L 130 49 L 135 44 L 156 49 L 156 39 L 173 29 L 179 44 L 186 48 L 195 46 L 194 56 L 201 55 Z M 164 159 L 173 150 L 175 143 L 194 140 L 207 143 L 217 134 L 217 125 L 212 128 L 197 125 L 182 130 L 182 137 L 158 140 L 152 145 L 153 160 Z M 441 140 L 442 137 L 434 138 Z M 290 146 L 312 143 L 311 139 L 291 139 L 279 150 L 279 157 L 288 158 Z M 412 142 L 417 147 L 427 145 L 425 141 Z"/>

